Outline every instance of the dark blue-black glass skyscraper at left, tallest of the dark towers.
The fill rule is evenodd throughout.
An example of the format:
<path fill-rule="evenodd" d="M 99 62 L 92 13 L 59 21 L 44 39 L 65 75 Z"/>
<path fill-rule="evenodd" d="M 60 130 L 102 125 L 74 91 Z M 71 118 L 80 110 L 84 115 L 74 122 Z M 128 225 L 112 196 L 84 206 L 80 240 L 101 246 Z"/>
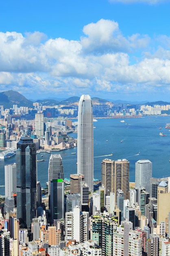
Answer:
<path fill-rule="evenodd" d="M 30 137 L 21 137 L 16 150 L 17 218 L 22 227 L 31 228 L 36 216 L 36 147 Z"/>

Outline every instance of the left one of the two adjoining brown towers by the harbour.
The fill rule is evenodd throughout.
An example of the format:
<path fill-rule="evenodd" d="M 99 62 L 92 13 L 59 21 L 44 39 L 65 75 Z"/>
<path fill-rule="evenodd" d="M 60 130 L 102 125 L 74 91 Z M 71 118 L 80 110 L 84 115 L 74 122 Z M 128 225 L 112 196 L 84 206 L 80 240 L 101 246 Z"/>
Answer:
<path fill-rule="evenodd" d="M 111 159 L 102 160 L 101 169 L 101 184 L 105 187 L 106 195 L 110 195 L 110 192 L 113 192 L 114 161 Z"/>

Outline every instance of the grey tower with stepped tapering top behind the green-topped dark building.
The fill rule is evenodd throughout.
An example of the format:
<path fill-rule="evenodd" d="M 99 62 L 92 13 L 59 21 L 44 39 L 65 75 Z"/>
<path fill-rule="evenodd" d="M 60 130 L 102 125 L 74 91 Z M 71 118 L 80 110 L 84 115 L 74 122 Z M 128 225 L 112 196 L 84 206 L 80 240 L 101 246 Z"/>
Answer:
<path fill-rule="evenodd" d="M 51 154 L 48 165 L 48 195 L 51 194 L 50 182 L 54 179 L 64 179 L 63 161 L 60 154 Z"/>

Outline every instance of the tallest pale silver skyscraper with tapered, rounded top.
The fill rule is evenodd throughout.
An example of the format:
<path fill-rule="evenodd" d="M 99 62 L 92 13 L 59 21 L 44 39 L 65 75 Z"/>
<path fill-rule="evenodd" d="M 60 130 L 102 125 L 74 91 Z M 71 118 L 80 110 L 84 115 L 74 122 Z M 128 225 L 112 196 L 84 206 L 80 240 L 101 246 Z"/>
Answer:
<path fill-rule="evenodd" d="M 93 191 L 94 180 L 93 108 L 89 95 L 82 95 L 78 105 L 77 173 Z"/>

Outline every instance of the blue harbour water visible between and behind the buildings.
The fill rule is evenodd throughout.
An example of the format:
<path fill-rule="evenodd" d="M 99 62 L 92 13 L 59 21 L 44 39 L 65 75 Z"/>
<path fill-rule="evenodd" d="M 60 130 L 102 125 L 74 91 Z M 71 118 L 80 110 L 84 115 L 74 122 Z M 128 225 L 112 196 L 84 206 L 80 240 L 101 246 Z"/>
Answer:
<path fill-rule="evenodd" d="M 105 158 L 129 160 L 131 182 L 135 181 L 135 162 L 139 159 L 149 159 L 153 163 L 153 177 L 170 176 L 170 131 L 165 129 L 170 117 L 126 118 L 123 123 L 120 122 L 122 119 L 98 119 L 94 122 L 94 178 L 101 178 L 101 162 Z M 167 136 L 159 136 L 159 132 Z M 77 134 L 70 136 L 76 138 Z M 73 152 L 77 153 L 77 148 L 59 152 L 63 159 L 64 177 L 69 178 L 70 174 L 77 172 L 77 154 L 71 154 Z M 50 154 L 37 154 L 37 159 L 41 158 L 44 162 L 37 163 L 37 180 L 46 187 Z M 0 159 L 1 195 L 4 195 L 4 165 L 14 162 L 15 157 Z"/>

